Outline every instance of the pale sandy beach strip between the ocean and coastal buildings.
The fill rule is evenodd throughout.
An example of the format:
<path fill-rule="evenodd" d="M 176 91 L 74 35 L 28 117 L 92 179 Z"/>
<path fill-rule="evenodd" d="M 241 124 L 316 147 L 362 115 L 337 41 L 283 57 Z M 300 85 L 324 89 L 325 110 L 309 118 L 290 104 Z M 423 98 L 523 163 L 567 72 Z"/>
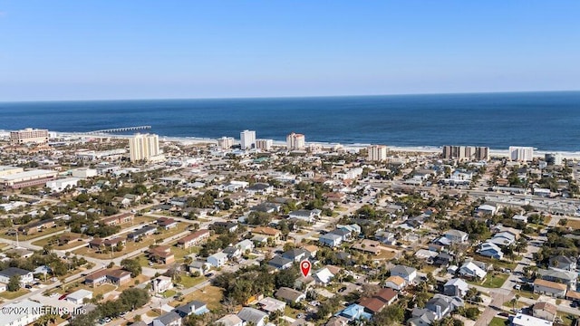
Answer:
<path fill-rule="evenodd" d="M 84 137 L 84 138 L 112 138 L 112 139 L 130 139 L 132 135 L 115 135 L 115 134 L 86 134 L 82 132 L 63 132 L 63 131 L 49 131 L 57 137 Z M 10 135 L 10 130 L 0 130 L 0 137 L 7 137 Z M 160 141 L 171 141 L 179 142 L 183 145 L 195 145 L 195 144 L 217 144 L 217 139 L 211 138 L 200 138 L 200 137 L 171 137 L 158 135 Z M 239 139 L 235 139 L 235 143 L 239 144 Z M 350 143 L 343 144 L 337 142 L 324 142 L 324 141 L 306 141 L 306 146 L 319 145 L 323 148 L 330 148 L 334 146 L 342 146 L 343 149 L 364 149 L 368 146 L 375 145 L 371 143 Z M 381 144 L 387 146 L 390 151 L 395 152 L 415 152 L 415 153 L 426 153 L 435 154 L 440 153 L 443 149 L 442 146 L 390 146 L 388 144 Z M 274 140 L 273 146 L 282 147 L 285 146 L 285 141 Z M 558 153 L 562 155 L 562 158 L 573 158 L 580 159 L 580 151 L 566 151 L 566 150 L 546 150 L 546 149 L 534 149 L 534 158 L 544 158 L 545 154 Z M 489 149 L 489 157 L 496 158 L 507 158 L 509 156 L 508 149 Z"/>

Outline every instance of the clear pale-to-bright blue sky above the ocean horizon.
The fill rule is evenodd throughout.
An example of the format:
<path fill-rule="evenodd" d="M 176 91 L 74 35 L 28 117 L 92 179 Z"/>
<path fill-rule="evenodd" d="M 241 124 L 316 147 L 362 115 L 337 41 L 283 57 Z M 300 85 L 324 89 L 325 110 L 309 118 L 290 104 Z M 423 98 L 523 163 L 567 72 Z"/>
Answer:
<path fill-rule="evenodd" d="M 0 101 L 580 90 L 580 1 L 0 0 Z"/>

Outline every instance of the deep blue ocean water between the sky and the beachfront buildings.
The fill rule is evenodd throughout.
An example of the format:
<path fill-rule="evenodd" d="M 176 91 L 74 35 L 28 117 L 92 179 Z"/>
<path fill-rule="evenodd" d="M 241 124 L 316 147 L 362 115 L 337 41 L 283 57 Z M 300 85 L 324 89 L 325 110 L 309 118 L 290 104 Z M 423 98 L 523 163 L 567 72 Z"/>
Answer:
<path fill-rule="evenodd" d="M 151 125 L 169 137 L 580 150 L 580 91 L 280 99 L 0 102 L 0 129 Z"/>

